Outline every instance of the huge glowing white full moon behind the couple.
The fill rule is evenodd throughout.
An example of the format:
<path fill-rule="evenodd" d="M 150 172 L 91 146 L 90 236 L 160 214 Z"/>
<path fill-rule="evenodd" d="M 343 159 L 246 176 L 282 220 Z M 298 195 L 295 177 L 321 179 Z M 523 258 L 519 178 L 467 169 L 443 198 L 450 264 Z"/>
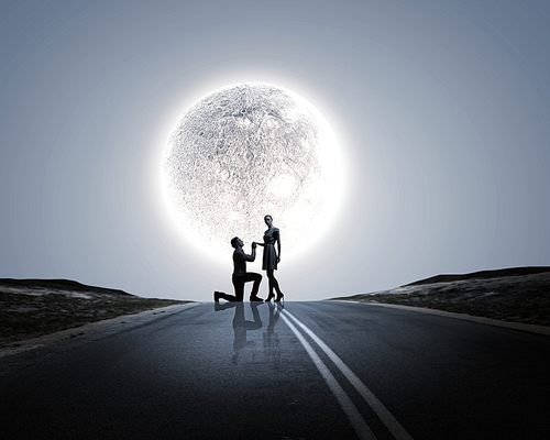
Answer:
<path fill-rule="evenodd" d="M 196 102 L 164 155 L 172 209 L 204 248 L 261 241 L 270 213 L 283 249 L 300 250 L 329 223 L 341 196 L 340 152 L 304 98 L 266 84 L 239 84 Z M 210 248 L 211 250 L 211 248 Z"/>

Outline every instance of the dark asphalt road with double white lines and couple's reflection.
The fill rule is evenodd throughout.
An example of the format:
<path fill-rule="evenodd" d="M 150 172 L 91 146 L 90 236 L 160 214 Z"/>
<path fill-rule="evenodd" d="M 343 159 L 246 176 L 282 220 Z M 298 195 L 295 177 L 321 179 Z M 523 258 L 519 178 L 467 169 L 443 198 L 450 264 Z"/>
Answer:
<path fill-rule="evenodd" d="M 550 439 L 548 336 L 358 304 L 230 306 L 0 359 L 28 364 L 0 378 L 0 438 Z"/>

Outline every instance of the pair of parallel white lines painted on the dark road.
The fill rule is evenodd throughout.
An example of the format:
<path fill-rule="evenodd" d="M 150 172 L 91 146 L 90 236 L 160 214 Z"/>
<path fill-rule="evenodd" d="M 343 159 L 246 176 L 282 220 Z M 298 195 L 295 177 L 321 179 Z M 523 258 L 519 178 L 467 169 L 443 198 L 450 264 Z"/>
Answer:
<path fill-rule="evenodd" d="M 338 381 L 334 378 L 332 373 L 329 371 L 327 365 L 322 362 L 309 342 L 304 338 L 304 336 L 298 331 L 298 329 L 290 322 L 290 319 L 300 327 L 316 343 L 319 348 L 329 356 L 329 359 L 334 363 L 334 365 L 343 373 L 343 375 L 350 381 L 350 383 L 355 387 L 355 389 L 361 394 L 365 402 L 374 409 L 376 415 L 381 418 L 387 429 L 396 438 L 396 440 L 413 440 L 405 428 L 397 421 L 397 419 L 389 413 L 386 407 L 380 402 L 376 396 L 366 387 L 363 382 L 345 365 L 340 358 L 324 343 L 317 334 L 315 334 L 309 328 L 307 328 L 301 321 L 299 321 L 294 315 L 287 310 L 283 310 L 280 317 L 285 320 L 290 330 L 296 334 L 298 340 L 301 342 L 309 356 L 314 361 L 315 365 L 321 373 L 322 377 L 327 382 L 327 385 L 331 389 L 334 397 L 340 403 L 340 406 L 344 410 L 345 415 L 350 419 L 351 425 L 355 429 L 360 439 L 363 440 L 376 440 L 376 437 L 372 432 L 371 428 L 366 425 L 365 420 L 359 413 L 353 402 L 342 389 Z M 288 319 L 290 318 L 290 319 Z"/>

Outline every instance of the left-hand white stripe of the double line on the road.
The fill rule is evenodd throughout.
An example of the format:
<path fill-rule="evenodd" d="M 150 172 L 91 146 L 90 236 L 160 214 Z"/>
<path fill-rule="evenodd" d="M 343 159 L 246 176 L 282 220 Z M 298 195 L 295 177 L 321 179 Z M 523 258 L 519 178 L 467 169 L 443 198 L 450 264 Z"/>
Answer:
<path fill-rule="evenodd" d="M 284 315 L 280 315 L 280 317 L 285 320 L 287 326 L 290 328 L 294 334 L 296 334 L 298 340 L 301 342 L 301 344 L 308 352 L 309 356 L 317 366 L 317 370 L 319 370 L 319 373 L 321 373 L 321 376 L 324 378 L 324 382 L 327 382 L 327 385 L 329 386 L 330 391 L 338 399 L 340 406 L 342 407 L 345 415 L 350 419 L 350 422 L 353 426 L 353 429 L 355 430 L 359 438 L 362 440 L 376 440 L 376 437 L 374 437 L 374 433 L 371 431 L 371 428 L 369 428 L 365 420 L 358 411 L 358 408 L 355 408 L 355 405 L 353 405 L 353 402 L 351 402 L 350 397 L 342 389 L 340 384 L 337 382 L 337 380 L 329 371 L 329 369 L 327 369 L 327 365 L 324 365 L 324 363 L 321 361 L 321 359 L 312 349 L 312 346 L 309 344 L 309 342 L 306 341 L 306 338 L 301 336 L 298 329 L 293 326 L 293 323 L 288 320 L 287 317 L 285 317 Z"/>

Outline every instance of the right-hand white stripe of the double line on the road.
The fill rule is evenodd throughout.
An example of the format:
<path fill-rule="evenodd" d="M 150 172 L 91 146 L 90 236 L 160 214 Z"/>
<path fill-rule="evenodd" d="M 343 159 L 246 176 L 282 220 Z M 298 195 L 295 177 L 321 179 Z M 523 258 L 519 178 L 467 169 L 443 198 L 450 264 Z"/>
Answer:
<path fill-rule="evenodd" d="M 387 410 L 387 408 L 380 402 L 376 396 L 366 387 L 363 382 L 343 363 L 343 361 L 324 343 L 317 334 L 315 334 L 308 327 L 299 321 L 294 315 L 287 310 L 283 310 L 288 315 L 301 329 L 309 334 L 309 337 L 321 348 L 321 350 L 330 358 L 330 360 L 338 366 L 343 375 L 350 381 L 355 389 L 363 396 L 365 402 L 373 408 L 376 415 L 381 418 L 384 425 L 389 429 L 397 440 L 413 440 L 413 437 L 405 430 L 405 428 L 397 421 L 397 419 Z M 282 314 L 283 318 L 285 317 Z"/>

